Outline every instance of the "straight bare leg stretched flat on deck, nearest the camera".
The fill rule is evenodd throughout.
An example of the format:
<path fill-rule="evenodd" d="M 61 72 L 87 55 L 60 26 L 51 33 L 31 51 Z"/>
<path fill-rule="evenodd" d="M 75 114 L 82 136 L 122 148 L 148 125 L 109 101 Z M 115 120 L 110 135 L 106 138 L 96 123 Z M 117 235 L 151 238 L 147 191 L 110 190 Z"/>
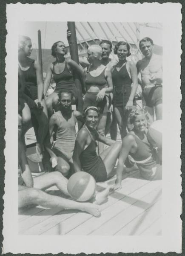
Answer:
<path fill-rule="evenodd" d="M 100 207 L 91 203 L 80 203 L 70 199 L 65 199 L 55 195 L 49 195 L 40 189 L 27 188 L 19 190 L 19 207 L 26 206 L 28 204 L 37 204 L 42 207 L 54 208 L 57 207 L 63 209 L 78 209 L 86 211 L 94 216 L 100 215 Z"/>

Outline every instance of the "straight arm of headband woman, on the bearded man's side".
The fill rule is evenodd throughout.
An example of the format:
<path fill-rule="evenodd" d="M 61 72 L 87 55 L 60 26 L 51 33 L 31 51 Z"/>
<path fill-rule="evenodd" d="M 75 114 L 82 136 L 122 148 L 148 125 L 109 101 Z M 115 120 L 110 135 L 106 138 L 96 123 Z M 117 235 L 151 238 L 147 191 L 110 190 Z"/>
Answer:
<path fill-rule="evenodd" d="M 80 130 L 80 132 L 77 134 L 75 145 L 74 145 L 74 152 L 73 152 L 73 163 L 74 163 L 75 172 L 82 171 L 82 167 L 80 163 L 80 154 L 85 148 L 87 136 L 88 134 L 84 129 Z"/>

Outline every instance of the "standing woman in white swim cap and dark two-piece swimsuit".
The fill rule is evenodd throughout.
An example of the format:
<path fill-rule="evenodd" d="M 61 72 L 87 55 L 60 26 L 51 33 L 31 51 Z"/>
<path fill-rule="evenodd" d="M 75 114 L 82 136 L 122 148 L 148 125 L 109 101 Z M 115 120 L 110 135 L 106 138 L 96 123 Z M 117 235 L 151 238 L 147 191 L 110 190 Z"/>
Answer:
<path fill-rule="evenodd" d="M 84 78 L 86 93 L 83 108 L 89 106 L 97 107 L 100 111 L 98 131 L 105 136 L 105 125 L 107 120 L 108 94 L 113 91 L 111 71 L 101 63 L 102 47 L 91 45 L 88 47 L 88 61 L 90 66 Z M 100 153 L 103 145 L 99 146 Z"/>

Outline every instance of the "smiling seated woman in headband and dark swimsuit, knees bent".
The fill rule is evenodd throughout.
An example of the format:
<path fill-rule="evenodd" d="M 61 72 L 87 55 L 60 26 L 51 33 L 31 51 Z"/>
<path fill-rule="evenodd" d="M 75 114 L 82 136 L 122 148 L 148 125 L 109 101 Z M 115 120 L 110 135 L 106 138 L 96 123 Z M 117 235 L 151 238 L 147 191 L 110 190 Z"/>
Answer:
<path fill-rule="evenodd" d="M 88 172 L 97 182 L 107 180 L 112 175 L 116 160 L 120 153 L 121 143 L 101 136 L 97 132 L 99 111 L 96 107 L 88 107 L 84 111 L 85 125 L 77 134 L 73 163 L 75 172 Z M 96 140 L 110 145 L 100 156 L 96 153 Z"/>

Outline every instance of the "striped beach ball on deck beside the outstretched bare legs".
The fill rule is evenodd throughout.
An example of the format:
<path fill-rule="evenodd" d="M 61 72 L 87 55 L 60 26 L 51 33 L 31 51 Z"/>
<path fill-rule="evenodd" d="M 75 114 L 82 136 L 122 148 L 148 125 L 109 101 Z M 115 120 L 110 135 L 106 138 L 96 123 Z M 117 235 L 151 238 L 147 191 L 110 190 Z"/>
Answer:
<path fill-rule="evenodd" d="M 87 172 L 76 172 L 68 180 L 67 189 L 72 198 L 88 201 L 95 192 L 96 181 Z"/>

